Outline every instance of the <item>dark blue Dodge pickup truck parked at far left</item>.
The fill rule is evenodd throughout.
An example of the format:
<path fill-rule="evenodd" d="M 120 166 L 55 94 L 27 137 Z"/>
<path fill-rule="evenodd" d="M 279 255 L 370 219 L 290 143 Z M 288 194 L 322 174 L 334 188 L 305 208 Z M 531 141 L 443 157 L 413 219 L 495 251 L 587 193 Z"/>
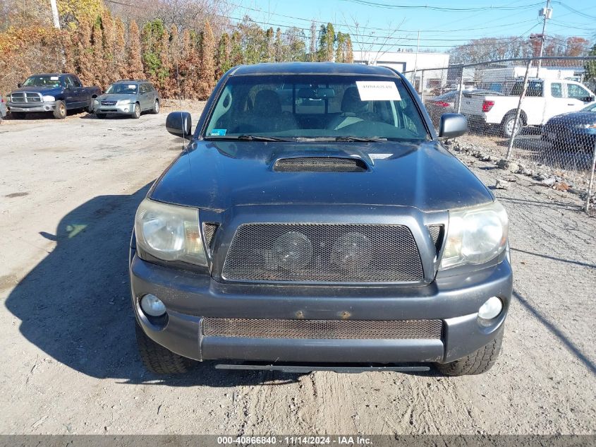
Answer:
<path fill-rule="evenodd" d="M 92 112 L 93 100 L 101 93 L 99 87 L 83 87 L 79 78 L 70 73 L 36 74 L 11 92 L 8 109 L 16 119 L 34 112 L 52 112 L 54 118 L 64 119 L 68 110 Z"/>

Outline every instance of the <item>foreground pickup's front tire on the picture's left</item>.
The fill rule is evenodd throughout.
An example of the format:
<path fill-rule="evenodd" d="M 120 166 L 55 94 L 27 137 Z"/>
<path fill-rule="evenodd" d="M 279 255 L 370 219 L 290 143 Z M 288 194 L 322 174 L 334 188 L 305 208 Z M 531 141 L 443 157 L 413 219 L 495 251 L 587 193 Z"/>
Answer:
<path fill-rule="evenodd" d="M 142 363 L 152 373 L 186 374 L 195 366 L 193 360 L 174 354 L 174 352 L 151 340 L 136 322 L 135 335 Z"/>

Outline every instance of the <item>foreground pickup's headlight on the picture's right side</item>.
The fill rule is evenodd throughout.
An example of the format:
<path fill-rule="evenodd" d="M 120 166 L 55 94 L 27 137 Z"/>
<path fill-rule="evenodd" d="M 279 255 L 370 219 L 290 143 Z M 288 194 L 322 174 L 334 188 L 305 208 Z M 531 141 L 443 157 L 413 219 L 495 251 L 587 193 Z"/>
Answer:
<path fill-rule="evenodd" d="M 439 268 L 490 261 L 505 249 L 508 228 L 505 208 L 497 201 L 451 211 L 447 242 Z"/>

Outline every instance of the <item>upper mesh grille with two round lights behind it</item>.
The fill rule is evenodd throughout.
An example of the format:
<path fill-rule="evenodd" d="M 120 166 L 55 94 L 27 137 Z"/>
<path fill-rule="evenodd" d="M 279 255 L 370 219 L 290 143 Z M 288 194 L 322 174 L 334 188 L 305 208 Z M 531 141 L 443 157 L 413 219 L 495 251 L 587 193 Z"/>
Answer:
<path fill-rule="evenodd" d="M 408 227 L 372 224 L 245 224 L 223 278 L 238 281 L 418 282 L 422 261 Z"/>

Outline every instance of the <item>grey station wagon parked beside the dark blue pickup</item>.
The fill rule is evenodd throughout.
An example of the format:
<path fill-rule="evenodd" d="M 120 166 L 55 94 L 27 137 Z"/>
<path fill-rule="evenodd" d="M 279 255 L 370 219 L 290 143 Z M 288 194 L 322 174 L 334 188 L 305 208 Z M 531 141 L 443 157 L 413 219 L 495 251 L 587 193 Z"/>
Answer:
<path fill-rule="evenodd" d="M 129 115 L 139 118 L 142 112 L 159 113 L 159 92 L 148 81 L 123 79 L 109 86 L 104 95 L 93 102 L 97 118 L 107 115 Z"/>

